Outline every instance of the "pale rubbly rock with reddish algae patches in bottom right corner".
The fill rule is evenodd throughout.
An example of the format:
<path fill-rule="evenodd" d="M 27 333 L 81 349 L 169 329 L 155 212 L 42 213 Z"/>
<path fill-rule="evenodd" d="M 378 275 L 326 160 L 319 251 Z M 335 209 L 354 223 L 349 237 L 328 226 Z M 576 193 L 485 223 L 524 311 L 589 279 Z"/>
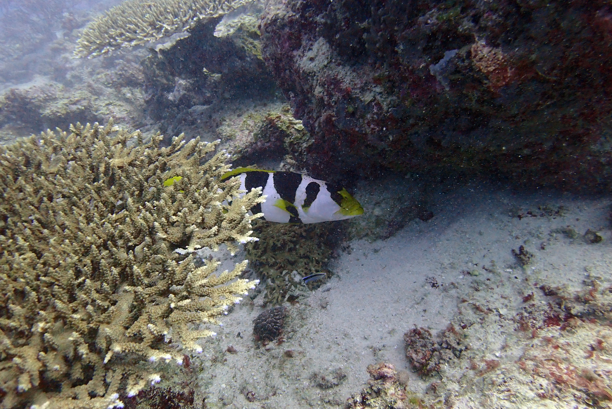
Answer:
<path fill-rule="evenodd" d="M 487 391 L 487 403 L 499 408 L 610 408 L 610 280 L 587 274 L 583 284 L 575 292 L 540 285 L 541 291 L 523 298 L 519 312 L 507 319 L 514 331 L 502 344 L 512 358 L 476 357 L 475 348 L 463 362 L 471 375 L 446 372 L 447 402 L 470 405 L 482 399 L 474 391 Z M 485 312 L 470 332 L 501 318 Z M 453 391 L 455 382 L 463 388 Z"/>

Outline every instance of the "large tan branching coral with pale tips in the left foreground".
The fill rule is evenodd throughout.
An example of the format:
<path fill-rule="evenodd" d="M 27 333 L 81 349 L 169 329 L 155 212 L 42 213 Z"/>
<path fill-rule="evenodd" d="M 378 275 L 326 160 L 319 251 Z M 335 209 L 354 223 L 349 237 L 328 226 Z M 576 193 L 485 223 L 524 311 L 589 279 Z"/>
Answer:
<path fill-rule="evenodd" d="M 155 361 L 182 364 L 177 348 L 200 352 L 215 333 L 199 325 L 256 284 L 234 280 L 247 261 L 215 276 L 217 261 L 190 255 L 256 240 L 260 189 L 219 181 L 226 152 L 200 164 L 216 142 L 70 131 L 0 148 L 2 409 L 122 407 L 119 393 L 158 382 Z"/>

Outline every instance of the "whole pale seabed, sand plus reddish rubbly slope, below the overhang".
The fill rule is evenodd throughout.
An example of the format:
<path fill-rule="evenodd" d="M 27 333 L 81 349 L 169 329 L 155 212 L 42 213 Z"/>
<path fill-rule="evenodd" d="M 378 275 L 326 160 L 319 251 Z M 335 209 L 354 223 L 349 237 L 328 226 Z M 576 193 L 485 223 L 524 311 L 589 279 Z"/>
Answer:
<path fill-rule="evenodd" d="M 263 294 L 245 297 L 192 359 L 206 406 L 345 407 L 376 362 L 393 364 L 409 393 L 433 407 L 611 406 L 611 198 L 475 182 L 441 190 L 436 203 L 428 222 L 383 241 L 351 241 L 328 282 L 285 304 L 281 345 L 256 345 Z M 589 229 L 603 240 L 585 239 Z M 525 266 L 512 252 L 521 245 L 531 255 Z M 461 353 L 419 375 L 405 332 L 422 327 L 435 337 L 449 325 Z"/>

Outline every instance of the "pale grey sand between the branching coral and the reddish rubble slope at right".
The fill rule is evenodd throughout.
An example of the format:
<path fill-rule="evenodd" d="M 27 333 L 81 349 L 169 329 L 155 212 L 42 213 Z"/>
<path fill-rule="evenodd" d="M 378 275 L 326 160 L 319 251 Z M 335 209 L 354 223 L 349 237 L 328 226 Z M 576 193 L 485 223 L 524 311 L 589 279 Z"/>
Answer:
<path fill-rule="evenodd" d="M 272 344 L 270 350 L 255 346 L 252 320 L 264 310 L 261 295 L 237 306 L 223 320 L 216 339 L 202 342 L 200 358 L 192 359 L 202 371 L 198 387 L 207 391 L 207 407 L 344 407 L 351 394 L 364 388 L 368 364 L 381 361 L 410 372 L 408 388 L 427 393 L 430 402 L 446 399 L 448 405 L 466 408 L 584 407 L 574 400 L 565 406 L 542 399 L 535 389 L 545 386 L 534 386 L 534 377 L 521 378 L 517 359 L 535 344 L 530 334 L 517 331 L 515 315 L 526 308 L 522 298 L 531 292 L 533 309 L 547 306 L 548 298 L 535 282 L 577 291 L 583 287 L 585 268 L 597 272 L 601 281 L 610 281 L 610 198 L 548 192 L 514 195 L 474 183 L 441 190 L 436 203 L 435 217 L 428 222 L 415 220 L 384 241 L 351 242 L 352 251 L 330 266 L 335 276 L 329 282 L 307 299 L 286 304 L 289 318 L 282 345 Z M 509 216 L 510 208 L 535 212 L 543 204 L 564 206 L 564 216 Z M 553 232 L 567 226 L 580 235 L 588 228 L 599 231 L 603 242 L 587 244 L 581 237 Z M 512 255 L 521 244 L 535 255 L 526 268 Z M 237 255 L 233 261 L 243 258 Z M 433 288 L 428 277 L 434 277 L 439 287 Z M 420 378 L 411 372 L 403 334 L 414 326 L 435 334 L 451 321 L 466 325 L 469 350 L 443 365 L 439 374 Z M 559 329 L 543 328 L 539 336 L 545 333 L 554 336 Z M 237 353 L 225 352 L 229 345 Z M 284 355 L 286 350 L 294 351 L 293 358 Z M 482 368 L 484 359 L 501 362 L 498 372 L 477 376 L 478 370 L 467 368 L 471 362 Z M 338 369 L 346 375 L 340 385 L 317 385 L 321 375 L 333 380 Z M 494 384 L 502 378 L 509 385 L 512 381 L 512 388 Z M 441 384 L 437 393 L 428 388 L 433 381 Z M 516 388 L 524 391 L 509 392 Z M 497 395 L 487 397 L 490 391 Z M 514 396 L 516 392 L 520 396 Z"/>

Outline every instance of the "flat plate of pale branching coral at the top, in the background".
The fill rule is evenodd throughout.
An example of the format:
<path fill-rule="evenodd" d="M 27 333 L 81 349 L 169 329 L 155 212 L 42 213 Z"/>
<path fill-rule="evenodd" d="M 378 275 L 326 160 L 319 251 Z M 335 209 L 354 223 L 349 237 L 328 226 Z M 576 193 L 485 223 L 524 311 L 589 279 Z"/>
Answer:
<path fill-rule="evenodd" d="M 158 40 L 221 17 L 252 0 L 127 0 L 86 26 L 75 54 L 96 57 L 121 47 Z"/>

